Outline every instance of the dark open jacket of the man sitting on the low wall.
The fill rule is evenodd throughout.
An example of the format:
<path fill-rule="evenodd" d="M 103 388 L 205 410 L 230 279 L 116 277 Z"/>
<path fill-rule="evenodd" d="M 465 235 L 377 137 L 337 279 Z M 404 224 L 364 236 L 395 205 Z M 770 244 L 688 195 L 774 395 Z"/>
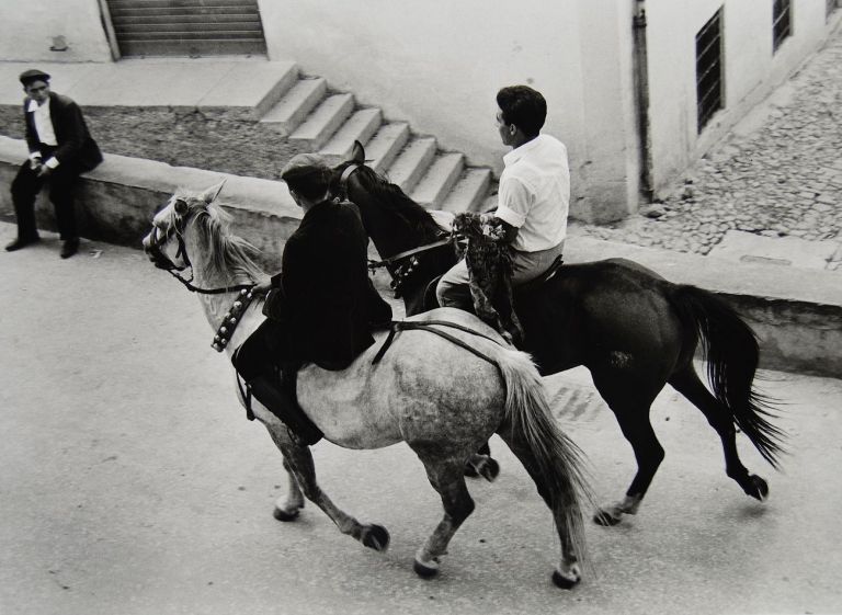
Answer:
<path fill-rule="evenodd" d="M 26 119 L 26 144 L 30 152 L 38 151 L 38 132 L 30 109 L 30 98 L 23 101 Z M 55 92 L 49 93 L 49 116 L 56 133 L 58 148 L 54 156 L 60 164 L 76 164 L 79 172 L 90 171 L 102 162 L 102 152 L 91 138 L 82 117 L 82 110 L 72 100 Z"/>

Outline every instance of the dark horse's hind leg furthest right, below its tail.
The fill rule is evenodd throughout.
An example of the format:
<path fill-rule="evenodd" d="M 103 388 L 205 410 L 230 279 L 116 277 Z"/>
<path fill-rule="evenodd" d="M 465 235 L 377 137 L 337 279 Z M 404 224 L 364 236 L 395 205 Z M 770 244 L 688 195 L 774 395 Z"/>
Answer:
<path fill-rule="evenodd" d="M 769 496 L 769 485 L 761 477 L 750 474 L 737 453 L 737 430 L 733 426 L 731 413 L 710 395 L 710 391 L 707 390 L 696 374 L 693 364 L 690 363 L 687 367 L 673 375 L 669 383 L 693 406 L 702 410 L 707 422 L 719 434 L 725 453 L 725 472 L 736 480 L 747 494 L 761 502 L 765 500 Z"/>

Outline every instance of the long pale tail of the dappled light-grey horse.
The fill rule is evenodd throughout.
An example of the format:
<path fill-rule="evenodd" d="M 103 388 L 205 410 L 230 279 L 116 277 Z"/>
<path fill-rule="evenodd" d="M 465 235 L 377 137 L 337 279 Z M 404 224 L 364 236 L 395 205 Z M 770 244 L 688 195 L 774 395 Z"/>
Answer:
<path fill-rule="evenodd" d="M 584 472 L 583 454 L 556 424 L 530 355 L 503 350 L 498 365 L 505 383 L 505 423 L 511 425 L 512 437 L 502 432 L 501 435 L 507 443 L 522 442 L 530 449 L 528 457 L 534 463 L 527 460 L 526 470 L 533 479 L 537 476 L 545 483 L 547 492 L 543 491 L 542 482 L 537 482 L 538 491 L 553 510 L 559 533 L 567 537 L 567 547 L 585 561 L 581 500 L 592 503 L 594 499 Z M 516 449 L 513 452 L 517 454 Z M 520 455 L 519 458 L 525 460 Z"/>

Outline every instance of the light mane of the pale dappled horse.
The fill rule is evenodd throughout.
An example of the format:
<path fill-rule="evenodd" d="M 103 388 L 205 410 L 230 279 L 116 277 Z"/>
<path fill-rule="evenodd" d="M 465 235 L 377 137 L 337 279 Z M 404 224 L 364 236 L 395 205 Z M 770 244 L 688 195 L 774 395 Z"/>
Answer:
<path fill-rule="evenodd" d="M 193 219 L 200 241 L 205 246 L 203 264 L 235 278 L 248 277 L 255 282 L 265 277 L 265 272 L 255 262 L 260 250 L 229 231 L 231 215 L 214 203 L 205 205 L 202 202 L 202 205 L 195 208 Z"/>

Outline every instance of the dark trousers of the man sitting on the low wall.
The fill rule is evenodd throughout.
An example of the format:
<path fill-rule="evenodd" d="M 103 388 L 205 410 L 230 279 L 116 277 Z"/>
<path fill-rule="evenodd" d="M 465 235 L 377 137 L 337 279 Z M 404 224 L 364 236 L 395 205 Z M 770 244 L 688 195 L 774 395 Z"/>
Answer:
<path fill-rule="evenodd" d="M 53 156 L 55 148 L 44 146 L 41 151 L 46 161 Z M 18 218 L 18 237 L 32 239 L 37 236 L 35 197 L 45 185 L 48 186 L 49 201 L 56 212 L 56 226 L 59 236 L 65 240 L 79 237 L 76 227 L 76 213 L 73 212 L 73 192 L 79 174 L 79 168 L 71 162 L 59 164 L 46 178 L 38 178 L 37 171 L 30 168 L 29 160 L 21 164 L 18 175 L 12 182 L 12 202 Z"/>

